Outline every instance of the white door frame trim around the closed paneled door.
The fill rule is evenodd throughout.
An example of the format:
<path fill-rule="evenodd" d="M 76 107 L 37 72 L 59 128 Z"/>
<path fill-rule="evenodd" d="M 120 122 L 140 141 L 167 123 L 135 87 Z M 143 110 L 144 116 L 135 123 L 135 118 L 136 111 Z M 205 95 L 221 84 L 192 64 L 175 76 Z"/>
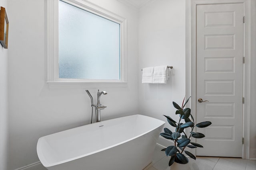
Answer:
<path fill-rule="evenodd" d="M 191 113 L 196 119 L 196 6 L 203 4 L 244 4 L 244 73 L 243 73 L 243 159 L 250 157 L 250 75 L 251 75 L 251 0 L 186 0 L 186 96 L 191 96 L 188 106 L 191 108 Z M 242 19 L 241 19 L 242 20 Z M 242 61 L 241 61 L 242 62 Z M 242 99 L 241 99 L 242 102 Z M 189 133 L 189 132 L 186 132 Z M 192 139 L 192 141 L 195 139 Z M 242 139 L 241 139 L 242 142 Z M 191 150 L 196 154 L 196 150 Z"/>

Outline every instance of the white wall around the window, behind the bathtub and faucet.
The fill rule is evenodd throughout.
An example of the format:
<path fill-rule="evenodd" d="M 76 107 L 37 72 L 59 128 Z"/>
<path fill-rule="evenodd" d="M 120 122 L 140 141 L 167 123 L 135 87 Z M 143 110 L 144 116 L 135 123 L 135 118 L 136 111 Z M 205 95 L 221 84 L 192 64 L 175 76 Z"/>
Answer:
<path fill-rule="evenodd" d="M 128 20 L 128 83 L 106 86 L 102 120 L 138 111 L 138 12 L 116 0 L 90 0 Z M 87 88 L 49 90 L 46 83 L 46 0 L 8 1 L 10 20 L 8 170 L 39 161 L 39 137 L 90 123 Z M 1 62 L 2 63 L 2 62 Z M 90 86 L 92 87 L 92 86 Z M 96 98 L 97 84 L 88 88 Z M 1 169 L 1 168 L 0 168 Z"/>

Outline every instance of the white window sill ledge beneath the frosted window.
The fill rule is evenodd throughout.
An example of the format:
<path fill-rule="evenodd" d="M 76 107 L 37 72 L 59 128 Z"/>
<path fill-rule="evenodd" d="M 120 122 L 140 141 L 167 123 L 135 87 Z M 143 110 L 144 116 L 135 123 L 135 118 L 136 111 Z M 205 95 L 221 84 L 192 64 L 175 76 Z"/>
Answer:
<path fill-rule="evenodd" d="M 128 82 L 67 82 L 46 81 L 50 89 L 126 87 Z"/>

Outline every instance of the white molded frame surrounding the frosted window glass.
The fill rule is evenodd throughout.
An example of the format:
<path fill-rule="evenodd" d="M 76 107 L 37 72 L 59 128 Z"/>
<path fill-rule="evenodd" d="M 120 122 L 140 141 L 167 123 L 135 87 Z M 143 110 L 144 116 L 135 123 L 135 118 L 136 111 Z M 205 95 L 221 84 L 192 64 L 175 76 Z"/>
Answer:
<path fill-rule="evenodd" d="M 120 80 L 63 79 L 58 68 L 58 3 L 47 0 L 47 82 L 49 85 L 82 85 L 88 82 L 127 82 L 127 20 L 88 0 L 62 0 L 78 8 L 120 24 Z"/>

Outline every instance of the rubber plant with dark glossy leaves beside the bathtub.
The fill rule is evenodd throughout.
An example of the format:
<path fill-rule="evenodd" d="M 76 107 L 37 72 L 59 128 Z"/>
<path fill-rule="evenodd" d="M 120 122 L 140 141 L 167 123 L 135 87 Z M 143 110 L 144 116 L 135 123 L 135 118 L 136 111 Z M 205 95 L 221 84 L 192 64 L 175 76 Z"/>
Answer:
<path fill-rule="evenodd" d="M 190 97 L 188 98 L 188 100 L 189 99 Z M 180 107 L 175 102 L 172 102 L 173 106 L 177 109 L 176 115 L 180 115 L 180 119 L 178 123 L 174 119 L 172 119 L 170 116 L 164 115 L 167 118 L 168 123 L 172 127 L 176 128 L 175 132 L 170 131 L 170 129 L 168 128 L 164 128 L 164 133 L 160 133 L 162 137 L 174 142 L 174 145 L 162 149 L 162 151 L 165 151 L 166 156 L 170 156 L 169 166 L 171 166 L 174 162 L 177 162 L 179 164 L 187 164 L 188 158 L 184 155 L 184 152 L 186 155 L 190 156 L 190 158 L 196 160 L 196 156 L 185 149 L 186 147 L 202 148 L 203 147 L 202 145 L 198 143 L 193 143 L 191 142 L 190 139 L 191 137 L 203 138 L 205 136 L 202 133 L 193 132 L 194 127 L 204 128 L 212 124 L 210 121 L 204 121 L 196 124 L 193 116 L 190 114 L 190 111 L 191 111 L 190 108 L 184 108 L 188 103 L 188 100 L 186 100 L 186 102 L 184 103 L 185 101 L 185 98 L 184 98 L 182 102 L 182 107 Z M 184 123 L 181 123 L 181 121 Z M 184 132 L 184 129 L 186 128 L 191 129 L 189 137 Z"/>

